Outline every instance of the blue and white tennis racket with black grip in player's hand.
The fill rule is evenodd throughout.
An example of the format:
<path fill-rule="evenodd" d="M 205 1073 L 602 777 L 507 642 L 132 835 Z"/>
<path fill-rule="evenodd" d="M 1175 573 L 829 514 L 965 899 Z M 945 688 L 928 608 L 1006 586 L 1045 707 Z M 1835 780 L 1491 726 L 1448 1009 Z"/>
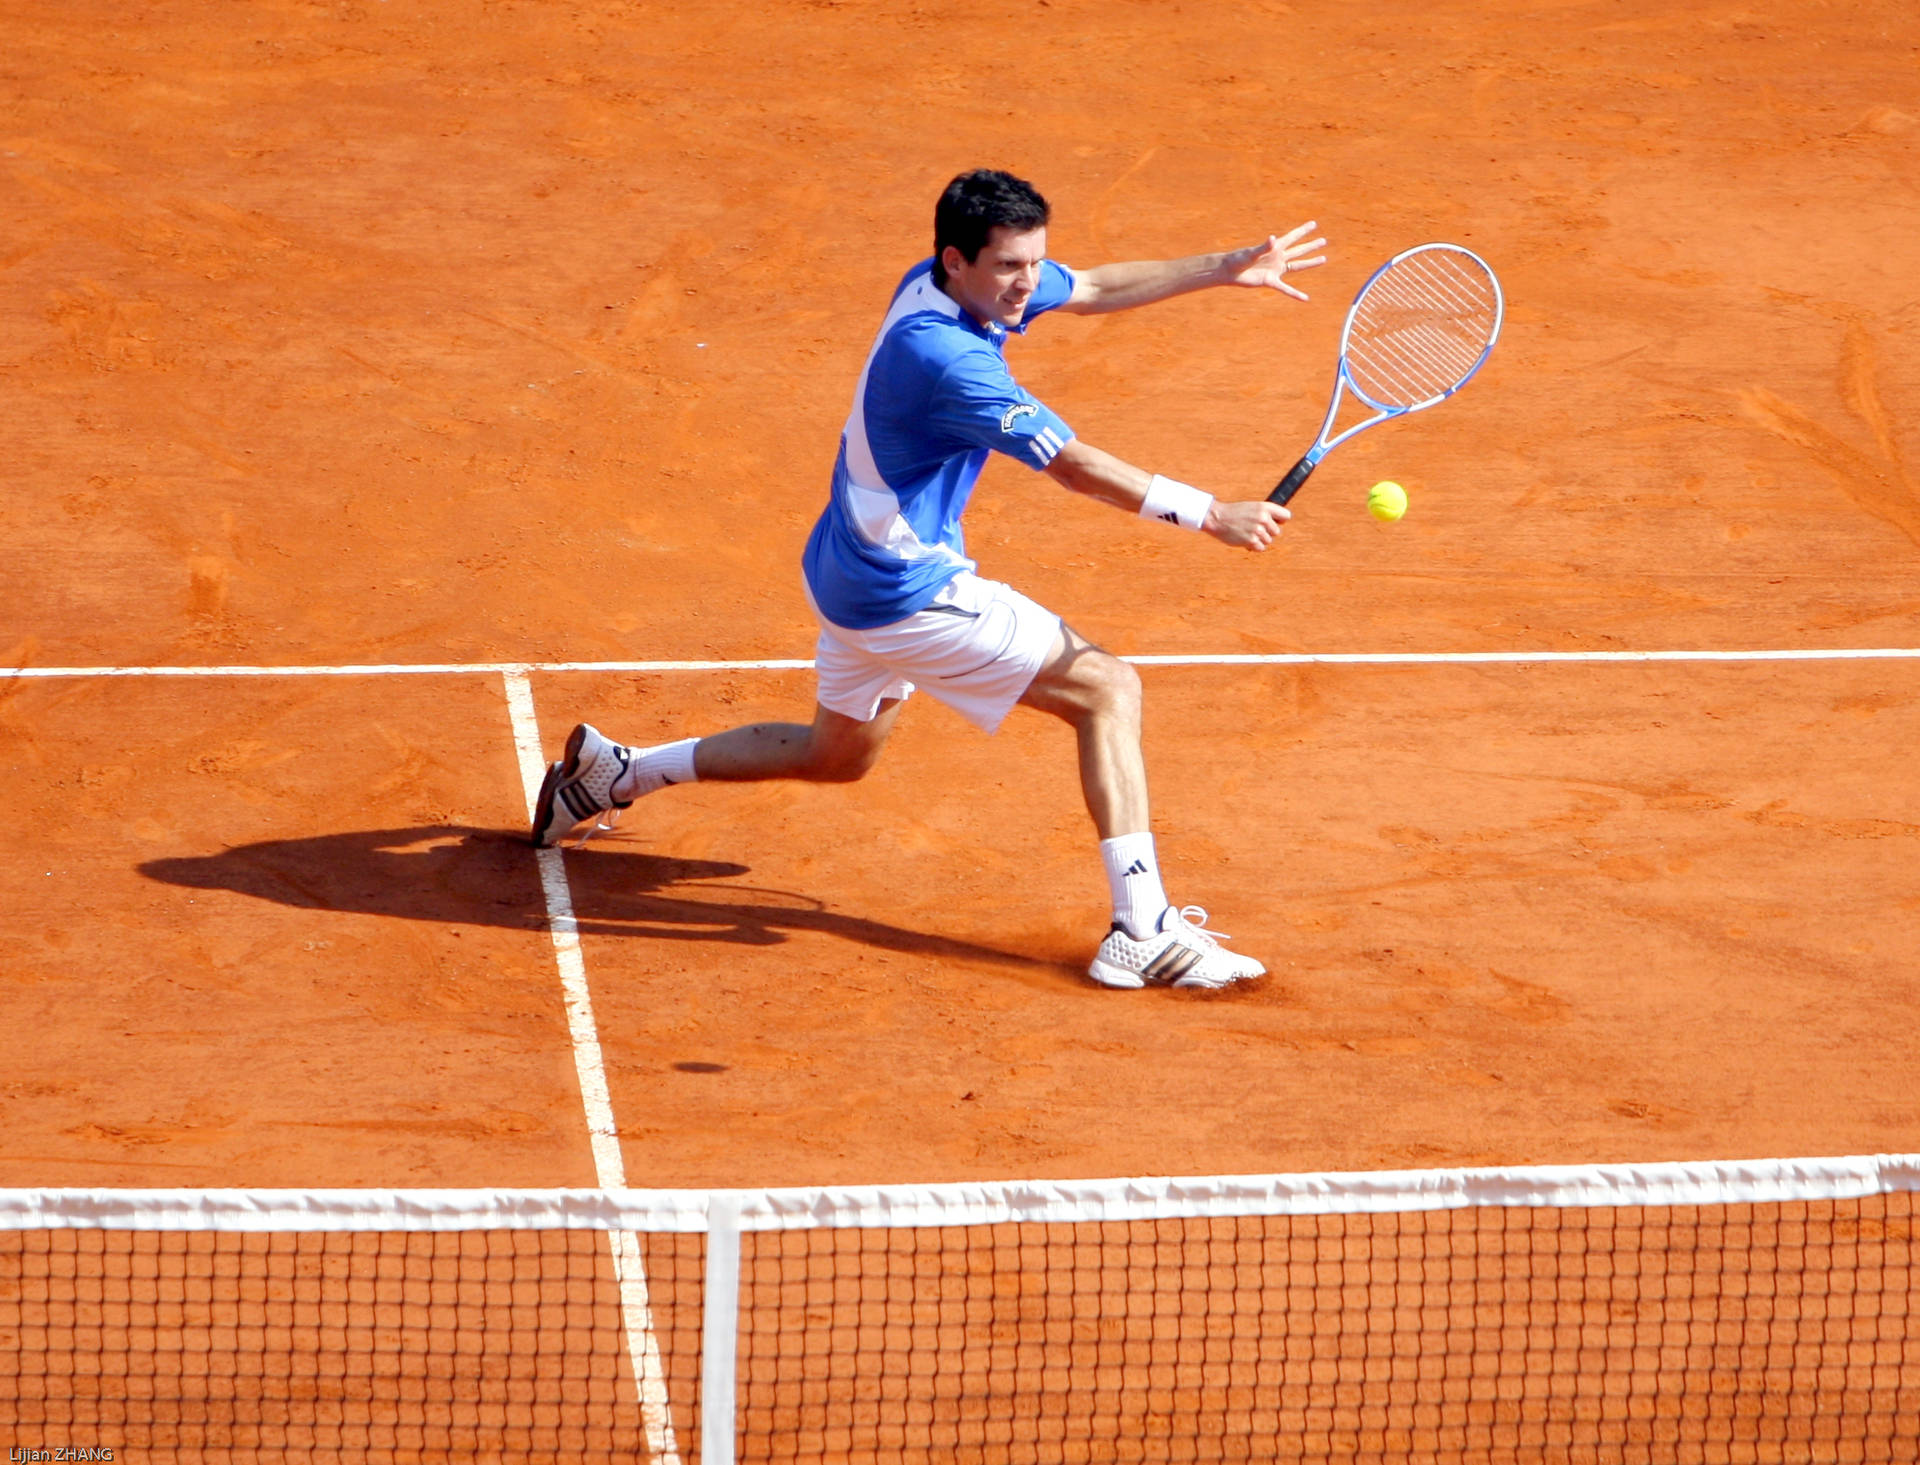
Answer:
<path fill-rule="evenodd" d="M 1319 438 L 1267 501 L 1286 503 L 1319 461 L 1356 432 L 1423 413 L 1459 392 L 1486 365 L 1503 315 L 1494 271 L 1457 244 L 1419 244 L 1373 271 L 1346 313 L 1340 369 Z M 1329 436 L 1342 394 L 1371 407 L 1373 417 Z"/>

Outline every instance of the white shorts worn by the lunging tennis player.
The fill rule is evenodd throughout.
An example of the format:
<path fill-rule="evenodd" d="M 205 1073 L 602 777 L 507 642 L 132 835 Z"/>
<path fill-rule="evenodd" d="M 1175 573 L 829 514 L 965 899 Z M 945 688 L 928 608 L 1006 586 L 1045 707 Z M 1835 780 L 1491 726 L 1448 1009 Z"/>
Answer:
<path fill-rule="evenodd" d="M 812 597 L 808 597 L 810 601 Z M 962 572 L 925 611 L 868 632 L 820 614 L 820 705 L 872 722 L 881 701 L 925 687 L 981 732 L 995 732 L 1046 664 L 1060 616 L 996 580 Z"/>

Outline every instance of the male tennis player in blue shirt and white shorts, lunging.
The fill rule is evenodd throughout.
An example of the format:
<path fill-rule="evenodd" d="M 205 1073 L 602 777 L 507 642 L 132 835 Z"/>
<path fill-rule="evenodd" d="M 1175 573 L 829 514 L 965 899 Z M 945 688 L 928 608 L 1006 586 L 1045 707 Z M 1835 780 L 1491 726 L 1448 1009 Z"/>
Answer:
<path fill-rule="evenodd" d="M 1313 225 L 1229 253 L 1071 271 L 1046 257 L 1046 200 L 981 169 L 954 179 L 933 211 L 933 257 L 893 292 L 841 434 L 828 505 L 803 555 L 820 620 L 810 726 L 758 722 L 659 747 L 624 747 L 582 724 L 547 768 L 534 843 L 668 783 L 864 776 L 900 705 L 924 687 L 983 732 L 1016 703 L 1052 712 L 1079 737 L 1081 787 L 1100 835 L 1114 925 L 1089 975 L 1106 987 L 1227 987 L 1265 968 L 1219 945 L 1198 906 L 1175 908 L 1160 879 L 1140 757 L 1140 678 L 1018 589 L 983 580 L 960 516 L 987 453 L 1006 453 L 1064 488 L 1148 520 L 1265 549 L 1286 509 L 1227 501 L 1137 468 L 1073 436 L 1006 367 L 1006 340 L 1060 309 L 1096 315 L 1206 286 L 1296 300 L 1294 271 L 1323 263 Z"/>

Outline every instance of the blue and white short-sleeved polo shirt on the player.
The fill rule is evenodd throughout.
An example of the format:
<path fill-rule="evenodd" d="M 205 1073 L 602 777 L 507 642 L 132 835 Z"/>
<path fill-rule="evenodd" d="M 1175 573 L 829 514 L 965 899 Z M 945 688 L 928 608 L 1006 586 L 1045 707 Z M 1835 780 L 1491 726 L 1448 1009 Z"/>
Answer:
<path fill-rule="evenodd" d="M 1071 294 L 1073 271 L 1041 261 L 1016 330 Z M 852 394 L 833 492 L 803 557 L 814 605 L 835 626 L 891 626 L 927 607 L 973 568 L 960 515 L 987 453 L 1044 468 L 1073 438 L 1006 369 L 1006 336 L 933 284 L 931 259 L 893 292 Z"/>

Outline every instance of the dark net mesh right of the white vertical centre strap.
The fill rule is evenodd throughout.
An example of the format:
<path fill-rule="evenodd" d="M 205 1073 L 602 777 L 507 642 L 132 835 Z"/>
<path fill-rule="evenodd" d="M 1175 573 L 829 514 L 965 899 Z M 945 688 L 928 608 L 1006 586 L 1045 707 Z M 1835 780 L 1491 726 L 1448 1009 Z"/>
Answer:
<path fill-rule="evenodd" d="M 756 1237 L 741 1459 L 1916 1461 L 1912 1219 L 1880 1196 Z"/>

